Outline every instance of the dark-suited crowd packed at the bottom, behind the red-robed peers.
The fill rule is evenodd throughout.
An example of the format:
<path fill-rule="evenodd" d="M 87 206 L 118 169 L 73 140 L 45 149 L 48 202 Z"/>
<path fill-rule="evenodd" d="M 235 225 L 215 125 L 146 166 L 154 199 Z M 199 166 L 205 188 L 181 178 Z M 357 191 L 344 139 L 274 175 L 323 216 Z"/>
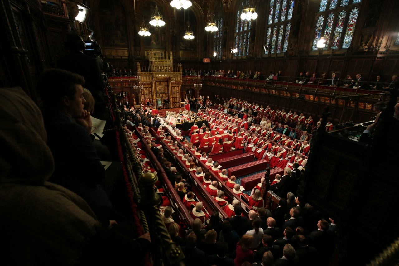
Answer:
<path fill-rule="evenodd" d="M 201 168 L 199 167 L 199 169 L 196 170 L 196 173 L 200 172 Z M 207 181 L 207 176 L 208 176 L 207 174 L 205 174 L 204 178 L 205 181 Z M 192 194 L 188 193 L 185 197 L 187 202 L 189 199 L 192 198 Z M 223 194 L 220 194 L 219 197 L 223 197 Z M 289 199 L 292 200 L 290 197 Z M 303 219 L 302 217 L 298 216 L 300 202 L 299 199 L 295 199 L 295 201 L 298 202 L 298 207 L 294 208 L 295 210 L 292 209 L 291 211 L 289 211 L 289 213 L 292 214 L 290 223 L 292 225 L 295 225 L 292 223 L 292 221 L 293 219 L 298 218 L 298 225 L 302 225 L 301 221 L 303 221 Z M 280 206 L 278 207 L 278 211 L 275 212 L 275 217 L 277 219 L 282 220 L 281 218 L 279 218 L 281 214 L 283 215 L 282 218 L 284 218 L 284 215 L 286 215 L 287 205 L 288 205 L 287 200 L 283 199 L 280 201 Z M 310 206 L 307 206 L 306 211 L 311 212 L 310 208 L 311 208 Z M 320 230 L 311 232 L 311 234 L 309 234 L 307 239 L 306 236 L 302 235 L 306 233 L 304 229 L 306 227 L 305 224 L 303 224 L 304 227 L 298 226 L 295 228 L 296 232 L 298 232 L 298 236 L 293 237 L 294 230 L 292 230 L 292 228 L 286 225 L 288 223 L 282 224 L 282 228 L 284 228 L 284 230 L 281 232 L 279 228 L 275 227 L 276 220 L 275 218 L 272 218 L 270 210 L 267 210 L 265 208 L 259 208 L 257 211 L 258 214 L 254 210 L 251 210 L 249 213 L 249 220 L 248 220 L 246 217 L 241 216 L 242 209 L 239 202 L 233 202 L 232 218 L 227 219 L 222 223 L 221 220 L 219 219 L 219 214 L 217 214 L 217 212 L 213 212 L 212 214 L 213 219 L 211 217 L 209 224 L 205 226 L 204 229 L 201 230 L 201 226 L 203 226 L 202 220 L 198 220 L 197 222 L 194 221 L 194 223 L 198 224 L 198 226 L 196 226 L 196 229 L 194 229 L 194 224 L 193 224 L 192 231 L 194 231 L 194 234 L 193 232 L 189 231 L 186 234 L 185 238 L 186 242 L 184 242 L 184 240 L 178 237 L 176 237 L 176 242 L 180 242 L 182 243 L 182 245 L 186 245 L 184 246 L 183 250 L 187 258 L 192 258 L 194 254 L 201 255 L 199 256 L 200 258 L 198 258 L 200 259 L 199 261 L 193 262 L 192 260 L 189 260 L 190 265 L 191 264 L 206 265 L 207 263 L 211 264 L 213 262 L 213 259 L 216 257 L 215 255 L 219 255 L 218 259 L 221 261 L 229 261 L 231 265 L 233 265 L 233 262 L 231 262 L 232 259 L 234 259 L 235 263 L 239 263 L 235 265 L 241 265 L 241 263 L 244 261 L 249 261 L 249 262 L 258 261 L 260 263 L 263 258 L 263 255 L 267 251 L 270 251 L 276 258 L 276 263 L 277 263 L 276 265 L 281 265 L 278 263 L 279 262 L 283 263 L 282 260 L 286 259 L 294 260 L 295 262 L 300 262 L 301 263 L 300 265 L 303 265 L 302 263 L 306 265 L 306 263 L 309 262 L 314 262 L 320 259 L 326 260 L 326 258 L 328 258 L 324 255 L 326 253 L 328 254 L 328 252 L 332 250 L 331 248 L 326 250 L 324 248 L 323 249 L 319 248 L 319 250 L 316 250 L 313 247 L 309 247 L 306 242 L 308 241 L 308 239 L 312 240 L 315 243 L 314 246 L 317 246 L 316 242 L 318 241 L 319 231 L 322 230 L 321 228 L 325 229 L 326 226 L 326 222 L 324 219 L 320 220 L 320 222 L 317 223 L 320 224 L 319 227 Z M 306 212 L 304 211 L 303 213 L 305 214 Z M 263 220 L 261 220 L 260 218 L 255 218 L 254 220 L 254 217 L 257 217 L 258 215 L 261 216 L 263 220 L 265 220 L 265 222 L 263 222 Z M 264 230 L 263 228 L 261 228 L 261 226 L 264 227 Z M 332 224 L 332 226 L 334 226 L 334 223 Z M 226 231 L 229 234 L 228 236 L 224 235 Z M 326 232 L 326 235 L 328 234 L 328 237 L 330 237 L 330 233 L 328 232 L 328 230 L 324 231 Z M 267 235 L 267 233 L 269 233 L 269 235 Z M 243 241 L 240 241 L 240 236 L 243 237 L 241 238 L 243 239 Z M 263 241 L 259 240 L 259 236 L 261 236 Z M 258 239 L 255 239 L 255 237 L 257 237 Z M 193 241 L 192 238 L 196 238 L 195 241 L 196 245 L 192 243 Z M 251 241 L 244 242 L 244 239 L 246 238 L 251 239 Z M 327 236 L 323 235 L 320 236 L 320 238 L 322 238 L 324 241 L 327 238 Z M 237 245 L 237 243 L 240 244 Z M 287 244 L 288 246 L 286 246 Z M 247 245 L 247 247 L 245 247 L 245 245 Z M 245 248 L 251 250 L 252 254 L 250 256 L 245 256 L 244 254 L 242 254 L 243 250 L 241 250 L 241 246 L 243 247 L 244 251 Z M 286 248 L 284 248 L 284 246 L 286 246 Z M 291 246 L 290 249 L 288 249 L 289 246 Z M 295 249 L 298 250 L 298 255 L 296 255 L 296 250 L 292 246 L 294 246 Z M 324 246 L 325 245 L 320 247 Z M 319 256 L 319 254 L 321 255 Z M 210 260 L 210 262 L 207 260 Z"/>

